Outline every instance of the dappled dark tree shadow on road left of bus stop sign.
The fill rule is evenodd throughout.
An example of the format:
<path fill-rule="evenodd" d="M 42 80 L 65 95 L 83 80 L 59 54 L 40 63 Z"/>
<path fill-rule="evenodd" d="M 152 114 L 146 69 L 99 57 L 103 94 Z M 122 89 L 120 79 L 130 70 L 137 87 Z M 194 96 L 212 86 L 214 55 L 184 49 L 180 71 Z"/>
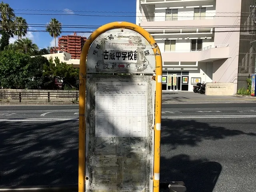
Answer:
<path fill-rule="evenodd" d="M 76 184 L 78 122 L 1 122 L 0 186 Z"/>

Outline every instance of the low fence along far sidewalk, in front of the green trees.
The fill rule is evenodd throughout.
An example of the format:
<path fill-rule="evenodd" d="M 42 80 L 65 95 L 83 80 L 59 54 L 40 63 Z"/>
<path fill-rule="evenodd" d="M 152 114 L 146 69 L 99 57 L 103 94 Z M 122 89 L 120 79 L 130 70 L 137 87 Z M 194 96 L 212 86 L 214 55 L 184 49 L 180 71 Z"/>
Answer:
<path fill-rule="evenodd" d="M 79 91 L 77 92 L 0 92 L 0 99 L 18 99 L 21 102 L 22 98 L 26 100 L 33 100 L 33 98 L 47 98 L 47 101 L 50 102 L 50 98 L 75 98 L 78 100 Z"/>

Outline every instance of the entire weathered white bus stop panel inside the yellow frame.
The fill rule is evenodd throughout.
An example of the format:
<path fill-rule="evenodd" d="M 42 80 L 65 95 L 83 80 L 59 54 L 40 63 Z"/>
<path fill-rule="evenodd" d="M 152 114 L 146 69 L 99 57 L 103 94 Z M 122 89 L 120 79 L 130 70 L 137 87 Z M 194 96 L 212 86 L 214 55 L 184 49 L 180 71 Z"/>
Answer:
<path fill-rule="evenodd" d="M 86 191 L 153 189 L 155 80 L 134 74 L 153 75 L 155 69 L 153 47 L 133 30 L 108 30 L 90 46 Z"/>

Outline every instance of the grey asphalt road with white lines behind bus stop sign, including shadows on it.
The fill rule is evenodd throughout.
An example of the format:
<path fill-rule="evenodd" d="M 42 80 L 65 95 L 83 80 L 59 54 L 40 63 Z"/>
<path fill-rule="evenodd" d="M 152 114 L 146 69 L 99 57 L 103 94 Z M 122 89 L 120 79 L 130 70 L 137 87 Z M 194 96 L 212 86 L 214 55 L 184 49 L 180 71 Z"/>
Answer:
<path fill-rule="evenodd" d="M 250 103 L 164 104 L 161 181 L 255 191 L 255 118 Z M 1 106 L 0 135 L 0 186 L 77 183 L 78 106 Z"/>

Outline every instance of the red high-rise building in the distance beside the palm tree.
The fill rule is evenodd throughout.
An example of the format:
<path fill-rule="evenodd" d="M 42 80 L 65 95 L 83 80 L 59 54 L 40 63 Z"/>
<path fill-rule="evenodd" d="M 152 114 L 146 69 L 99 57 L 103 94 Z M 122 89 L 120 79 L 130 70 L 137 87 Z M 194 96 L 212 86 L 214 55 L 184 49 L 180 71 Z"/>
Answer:
<path fill-rule="evenodd" d="M 77 36 L 76 32 L 74 32 L 74 35 L 61 36 L 58 39 L 58 48 L 56 48 L 56 51 L 68 52 L 71 54 L 72 59 L 80 59 L 86 39 L 86 37 Z M 51 49 L 51 53 L 54 53 L 54 48 Z"/>

